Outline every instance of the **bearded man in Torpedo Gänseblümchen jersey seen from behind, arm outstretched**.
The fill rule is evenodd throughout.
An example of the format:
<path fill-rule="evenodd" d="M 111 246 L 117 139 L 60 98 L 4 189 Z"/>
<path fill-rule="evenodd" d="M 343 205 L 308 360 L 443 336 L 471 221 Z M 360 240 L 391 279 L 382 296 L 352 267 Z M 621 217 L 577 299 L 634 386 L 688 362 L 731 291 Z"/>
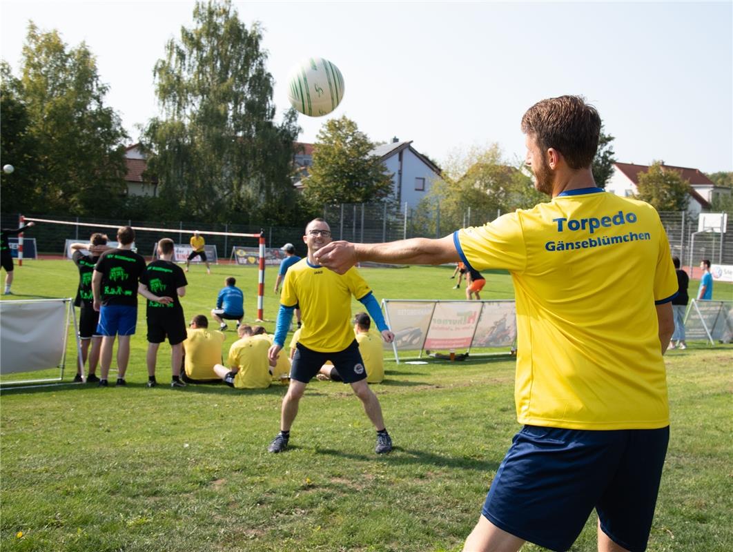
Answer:
<path fill-rule="evenodd" d="M 662 355 L 677 293 L 650 205 L 596 188 L 601 120 L 583 98 L 522 119 L 526 164 L 552 197 L 439 240 L 331 243 L 317 262 L 465 262 L 504 268 L 517 305 L 517 419 L 466 551 L 565 551 L 595 508 L 599 551 L 643 551 L 669 438 Z"/>

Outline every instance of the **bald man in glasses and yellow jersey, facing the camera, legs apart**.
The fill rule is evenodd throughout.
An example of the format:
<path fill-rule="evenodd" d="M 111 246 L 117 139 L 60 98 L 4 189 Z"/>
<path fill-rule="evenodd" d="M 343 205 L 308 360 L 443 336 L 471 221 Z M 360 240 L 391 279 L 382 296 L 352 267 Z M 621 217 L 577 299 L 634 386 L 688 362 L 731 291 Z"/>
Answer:
<path fill-rule="evenodd" d="M 384 427 L 382 407 L 367 384 L 364 361 L 351 329 L 351 296 L 367 307 L 386 342 L 391 342 L 394 334 L 387 328 L 379 303 L 356 268 L 339 275 L 317 265 L 314 253 L 331 242 L 331 228 L 323 218 L 314 218 L 309 222 L 303 242 L 308 246 L 308 256 L 292 265 L 285 274 L 275 339 L 270 347 L 270 364 L 274 364 L 290 328 L 292 311 L 298 305 L 303 320 L 301 336 L 292 358 L 290 387 L 282 401 L 280 433 L 270 443 L 268 451 L 282 452 L 287 449 L 290 427 L 298 414 L 298 403 L 306 385 L 325 361 L 330 360 L 339 370 L 344 383 L 350 383 L 377 430 L 375 452 L 390 452 L 392 441 Z"/>

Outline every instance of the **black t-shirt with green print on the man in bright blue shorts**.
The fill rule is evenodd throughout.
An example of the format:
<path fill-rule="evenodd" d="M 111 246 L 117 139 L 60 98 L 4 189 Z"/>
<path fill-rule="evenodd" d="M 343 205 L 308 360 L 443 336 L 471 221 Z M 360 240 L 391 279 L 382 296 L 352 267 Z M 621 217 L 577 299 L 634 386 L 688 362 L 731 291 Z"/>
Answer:
<path fill-rule="evenodd" d="M 137 306 L 138 281 L 145 260 L 130 249 L 110 249 L 100 255 L 95 271 L 102 273 L 102 304 Z"/>

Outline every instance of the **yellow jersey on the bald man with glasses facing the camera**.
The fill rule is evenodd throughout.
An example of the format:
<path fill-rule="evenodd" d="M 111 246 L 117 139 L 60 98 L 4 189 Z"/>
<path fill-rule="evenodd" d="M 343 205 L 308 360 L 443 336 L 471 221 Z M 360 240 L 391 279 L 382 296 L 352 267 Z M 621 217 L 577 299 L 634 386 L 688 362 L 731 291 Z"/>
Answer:
<path fill-rule="evenodd" d="M 351 296 L 362 299 L 371 291 L 356 268 L 336 274 L 320 265 L 311 265 L 306 257 L 285 273 L 280 303 L 301 309 L 298 342 L 303 347 L 336 353 L 354 341 Z"/>

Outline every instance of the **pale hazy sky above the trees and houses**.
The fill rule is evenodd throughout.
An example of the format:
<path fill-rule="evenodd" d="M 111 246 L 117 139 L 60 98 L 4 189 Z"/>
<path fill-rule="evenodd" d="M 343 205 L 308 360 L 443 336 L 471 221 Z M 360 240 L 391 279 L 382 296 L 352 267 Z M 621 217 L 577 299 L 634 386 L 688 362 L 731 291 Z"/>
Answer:
<path fill-rule="evenodd" d="M 733 170 L 733 1 L 721 2 L 246 2 L 276 81 L 307 57 L 333 62 L 341 105 L 302 115 L 313 142 L 347 116 L 372 141 L 412 140 L 438 163 L 498 143 L 508 161 L 526 149 L 520 120 L 545 97 L 583 95 L 615 137 L 616 160 Z M 193 23 L 194 1 L 0 3 L 0 56 L 16 76 L 29 20 L 84 41 L 109 85 L 130 143 L 159 114 L 152 68 Z"/>

